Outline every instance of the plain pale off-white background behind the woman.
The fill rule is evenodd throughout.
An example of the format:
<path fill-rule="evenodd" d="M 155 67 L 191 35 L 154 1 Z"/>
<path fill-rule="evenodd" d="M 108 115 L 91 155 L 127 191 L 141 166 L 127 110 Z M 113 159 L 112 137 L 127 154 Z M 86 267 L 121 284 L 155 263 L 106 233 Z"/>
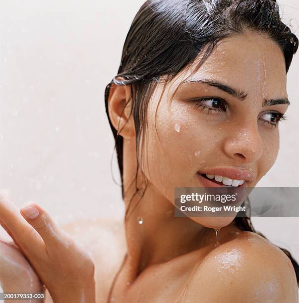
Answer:
<path fill-rule="evenodd" d="M 299 35 L 298 0 L 278 1 Z M 34 200 L 59 224 L 123 216 L 114 140 L 104 105 L 130 23 L 143 0 L 0 1 L 0 188 Z M 259 187 L 299 186 L 299 53 L 280 152 Z M 253 218 L 299 261 L 299 218 Z"/>

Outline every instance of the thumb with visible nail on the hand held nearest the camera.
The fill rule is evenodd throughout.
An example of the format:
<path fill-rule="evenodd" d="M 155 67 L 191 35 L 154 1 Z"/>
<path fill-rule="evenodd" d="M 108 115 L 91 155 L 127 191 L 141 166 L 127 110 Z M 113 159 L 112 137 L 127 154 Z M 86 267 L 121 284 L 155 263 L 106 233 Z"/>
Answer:
<path fill-rule="evenodd" d="M 46 245 L 47 251 L 56 250 L 59 246 L 68 247 L 70 238 L 52 220 L 50 215 L 40 205 L 29 202 L 20 209 L 20 213 L 27 222 L 40 234 Z"/>

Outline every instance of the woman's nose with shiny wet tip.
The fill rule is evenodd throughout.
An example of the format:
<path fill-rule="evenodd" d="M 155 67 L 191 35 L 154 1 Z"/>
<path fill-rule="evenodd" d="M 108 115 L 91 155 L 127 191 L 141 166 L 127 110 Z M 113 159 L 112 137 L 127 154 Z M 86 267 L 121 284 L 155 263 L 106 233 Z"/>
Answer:
<path fill-rule="evenodd" d="M 257 121 L 243 121 L 242 124 L 238 123 L 236 127 L 230 128 L 229 136 L 224 142 L 224 152 L 230 158 L 241 162 L 257 161 L 263 153 L 263 141 Z"/>

